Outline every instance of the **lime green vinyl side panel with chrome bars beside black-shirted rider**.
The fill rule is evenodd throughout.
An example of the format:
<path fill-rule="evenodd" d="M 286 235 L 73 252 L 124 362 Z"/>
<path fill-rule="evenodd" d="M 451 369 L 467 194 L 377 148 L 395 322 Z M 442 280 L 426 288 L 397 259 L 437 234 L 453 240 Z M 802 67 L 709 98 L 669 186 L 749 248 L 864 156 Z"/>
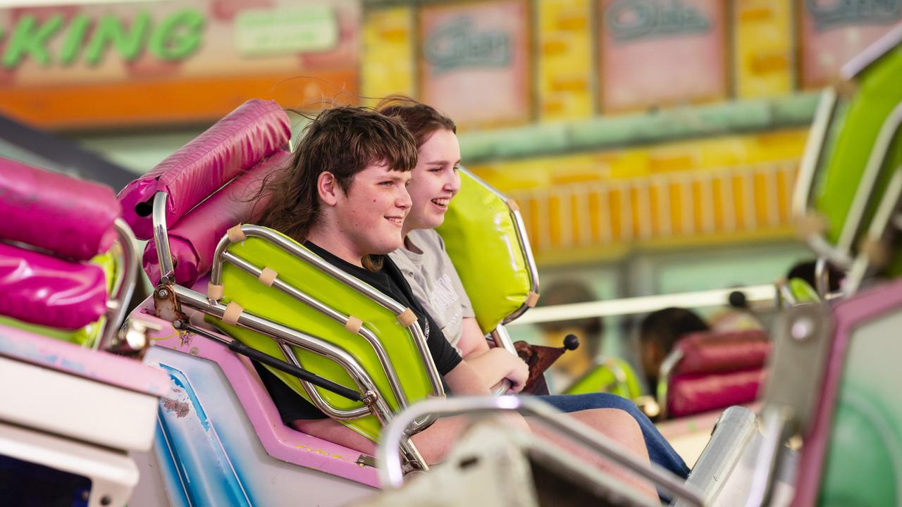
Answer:
<path fill-rule="evenodd" d="M 274 232 L 274 231 L 273 231 Z M 276 233 L 281 235 L 280 233 Z M 288 239 L 300 248 L 302 245 Z M 306 248 L 305 248 L 306 250 Z M 326 272 L 321 272 L 315 265 L 294 256 L 280 246 L 260 237 L 247 237 L 241 243 L 230 244 L 227 250 L 259 269 L 270 268 L 278 273 L 278 279 L 306 293 L 308 296 L 345 316 L 354 316 L 363 321 L 363 326 L 371 330 L 384 346 L 386 354 L 398 374 L 404 396 L 410 403 L 425 399 L 429 390 L 427 365 L 419 355 L 417 346 L 410 331 L 401 326 L 398 318 L 389 309 L 385 309 L 375 300 L 361 294 L 344 282 L 336 280 Z M 316 336 L 344 349 L 364 367 L 373 378 L 379 396 L 385 400 L 391 411 L 400 411 L 400 403 L 391 391 L 387 373 L 376 355 L 373 346 L 363 336 L 345 328 L 343 323 L 320 313 L 300 300 L 273 287 L 264 285 L 253 275 L 242 271 L 230 263 L 225 263 L 222 271 L 223 303 L 234 301 L 244 311 L 255 316 L 266 318 L 286 327 L 296 329 L 310 336 Z M 266 354 L 285 360 L 278 344 L 270 336 L 264 336 L 253 330 L 229 326 L 223 322 L 207 318 L 217 327 L 235 339 L 252 346 Z M 414 324 L 414 326 L 419 326 Z M 299 364 L 305 370 L 333 382 L 360 391 L 351 376 L 334 360 L 318 355 L 298 346 L 291 346 Z M 431 361 L 431 359 L 428 359 Z M 308 401 L 310 398 L 299 380 L 281 371 L 267 366 L 284 383 Z M 354 410 L 363 407 L 362 401 L 351 401 L 336 393 L 314 387 L 323 400 L 337 410 Z M 372 415 L 359 419 L 340 420 L 342 424 L 360 433 L 366 438 L 377 440 L 381 424 Z"/>

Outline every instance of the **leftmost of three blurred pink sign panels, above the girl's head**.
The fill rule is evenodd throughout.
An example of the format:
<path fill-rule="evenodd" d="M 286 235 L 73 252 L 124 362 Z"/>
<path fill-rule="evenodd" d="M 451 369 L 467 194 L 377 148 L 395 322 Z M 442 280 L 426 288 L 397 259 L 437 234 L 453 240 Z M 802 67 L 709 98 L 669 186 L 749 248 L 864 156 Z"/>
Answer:
<path fill-rule="evenodd" d="M 458 124 L 529 120 L 529 7 L 522 0 L 419 11 L 419 92 Z"/>

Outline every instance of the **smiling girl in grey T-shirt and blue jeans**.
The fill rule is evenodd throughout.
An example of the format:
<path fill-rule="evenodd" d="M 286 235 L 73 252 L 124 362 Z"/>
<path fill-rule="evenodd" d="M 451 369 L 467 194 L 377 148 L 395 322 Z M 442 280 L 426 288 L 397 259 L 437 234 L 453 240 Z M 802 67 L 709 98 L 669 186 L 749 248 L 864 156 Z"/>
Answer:
<path fill-rule="evenodd" d="M 410 283 L 419 304 L 441 327 L 464 362 L 482 378 L 483 385 L 492 388 L 507 379 L 511 392 L 520 392 L 529 368 L 506 349 L 488 346 L 445 244 L 435 231 L 445 221 L 448 204 L 460 190 L 461 154 L 456 125 L 434 107 L 407 97 L 387 98 L 379 110 L 407 126 L 417 143 L 418 155 L 407 188 L 411 204 L 402 229 L 403 246 L 389 257 Z M 628 412 L 642 430 L 651 461 L 681 477 L 689 474 L 682 457 L 632 401 L 606 392 L 539 398 L 571 413 L 594 409 Z"/>

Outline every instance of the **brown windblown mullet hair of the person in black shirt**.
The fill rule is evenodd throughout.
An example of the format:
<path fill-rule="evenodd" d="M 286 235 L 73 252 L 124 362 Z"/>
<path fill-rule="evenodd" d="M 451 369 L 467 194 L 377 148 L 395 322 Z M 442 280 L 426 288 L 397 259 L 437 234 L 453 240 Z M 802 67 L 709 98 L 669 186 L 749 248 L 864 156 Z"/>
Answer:
<path fill-rule="evenodd" d="M 270 199 L 257 223 L 304 243 L 319 216 L 319 174 L 331 172 L 347 194 L 354 175 L 372 163 L 404 172 L 417 165 L 417 144 L 400 120 L 369 107 L 336 106 L 322 111 L 304 127 L 290 166 L 272 172 L 263 182 L 258 197 L 269 194 Z M 382 256 L 367 255 L 362 263 L 378 271 Z"/>

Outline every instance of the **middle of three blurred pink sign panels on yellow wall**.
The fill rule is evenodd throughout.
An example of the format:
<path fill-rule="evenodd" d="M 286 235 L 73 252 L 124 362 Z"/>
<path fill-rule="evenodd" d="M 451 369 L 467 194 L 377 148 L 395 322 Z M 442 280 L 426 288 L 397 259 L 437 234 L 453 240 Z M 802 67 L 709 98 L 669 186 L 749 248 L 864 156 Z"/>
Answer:
<path fill-rule="evenodd" d="M 600 0 L 605 112 L 719 100 L 729 91 L 726 2 Z"/>

